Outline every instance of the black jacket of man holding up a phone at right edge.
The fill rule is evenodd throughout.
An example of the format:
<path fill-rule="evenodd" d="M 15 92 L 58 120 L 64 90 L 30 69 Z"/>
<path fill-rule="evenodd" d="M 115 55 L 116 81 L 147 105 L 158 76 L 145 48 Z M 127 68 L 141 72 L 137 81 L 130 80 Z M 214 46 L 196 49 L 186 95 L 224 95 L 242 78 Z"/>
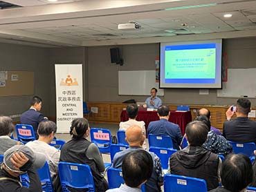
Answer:
<path fill-rule="evenodd" d="M 248 117 L 237 117 L 223 123 L 223 136 L 232 142 L 255 142 L 256 122 Z"/>

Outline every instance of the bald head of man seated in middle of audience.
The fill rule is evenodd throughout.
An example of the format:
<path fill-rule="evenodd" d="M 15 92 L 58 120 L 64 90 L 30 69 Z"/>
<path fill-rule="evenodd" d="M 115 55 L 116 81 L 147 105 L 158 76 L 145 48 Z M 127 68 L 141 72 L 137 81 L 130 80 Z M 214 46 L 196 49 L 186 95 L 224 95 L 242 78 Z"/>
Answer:
<path fill-rule="evenodd" d="M 142 147 L 145 140 L 143 129 L 138 125 L 130 126 L 127 131 L 125 131 L 125 136 L 125 140 L 129 143 L 129 146 Z"/>

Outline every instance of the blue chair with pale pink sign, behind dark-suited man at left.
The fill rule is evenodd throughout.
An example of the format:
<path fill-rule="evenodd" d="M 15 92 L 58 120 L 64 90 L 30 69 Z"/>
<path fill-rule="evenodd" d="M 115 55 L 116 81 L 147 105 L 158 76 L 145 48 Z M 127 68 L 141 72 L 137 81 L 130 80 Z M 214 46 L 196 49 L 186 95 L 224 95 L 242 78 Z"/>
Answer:
<path fill-rule="evenodd" d="M 17 124 L 15 126 L 17 138 L 20 142 L 24 144 L 35 140 L 35 133 L 33 126 L 26 124 Z"/>

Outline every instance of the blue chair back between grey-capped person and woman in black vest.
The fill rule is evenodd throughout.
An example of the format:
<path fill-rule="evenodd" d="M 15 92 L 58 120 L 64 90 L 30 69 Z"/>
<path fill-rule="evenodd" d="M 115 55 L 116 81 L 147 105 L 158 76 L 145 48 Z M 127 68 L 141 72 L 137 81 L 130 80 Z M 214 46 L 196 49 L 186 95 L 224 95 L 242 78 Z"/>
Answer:
<path fill-rule="evenodd" d="M 51 173 L 50 173 L 48 163 L 46 162 L 41 169 L 38 169 L 37 173 L 38 173 L 39 178 L 41 180 L 43 191 L 53 192 Z"/>

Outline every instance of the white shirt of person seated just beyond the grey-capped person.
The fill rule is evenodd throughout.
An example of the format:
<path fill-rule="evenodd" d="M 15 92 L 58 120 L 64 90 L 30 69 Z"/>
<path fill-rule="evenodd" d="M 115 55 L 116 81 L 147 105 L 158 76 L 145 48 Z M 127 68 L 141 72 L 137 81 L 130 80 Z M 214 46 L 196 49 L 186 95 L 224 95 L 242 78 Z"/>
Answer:
<path fill-rule="evenodd" d="M 46 144 L 46 142 L 41 142 L 39 140 L 35 140 L 33 142 L 28 142 L 26 144 L 32 151 L 37 153 L 44 153 L 46 155 L 46 161 L 48 162 L 51 177 L 53 178 L 58 173 L 58 164 L 60 161 L 60 151 L 57 150 L 54 146 Z"/>

